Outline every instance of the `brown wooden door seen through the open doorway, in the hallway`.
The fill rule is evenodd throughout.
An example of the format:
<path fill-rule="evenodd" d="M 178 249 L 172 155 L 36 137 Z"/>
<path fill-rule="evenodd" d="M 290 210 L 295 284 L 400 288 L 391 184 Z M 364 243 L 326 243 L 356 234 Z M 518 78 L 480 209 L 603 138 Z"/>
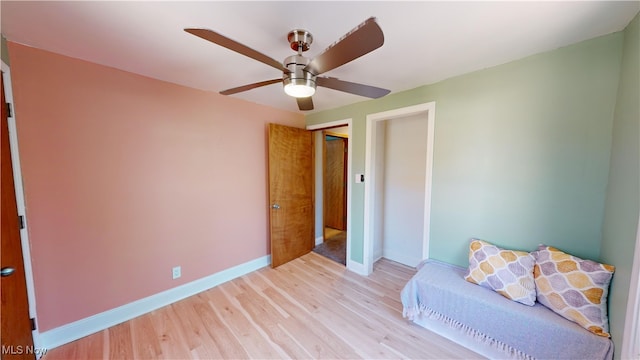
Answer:
<path fill-rule="evenodd" d="M 324 225 L 345 230 L 347 209 L 347 139 L 325 135 Z"/>

